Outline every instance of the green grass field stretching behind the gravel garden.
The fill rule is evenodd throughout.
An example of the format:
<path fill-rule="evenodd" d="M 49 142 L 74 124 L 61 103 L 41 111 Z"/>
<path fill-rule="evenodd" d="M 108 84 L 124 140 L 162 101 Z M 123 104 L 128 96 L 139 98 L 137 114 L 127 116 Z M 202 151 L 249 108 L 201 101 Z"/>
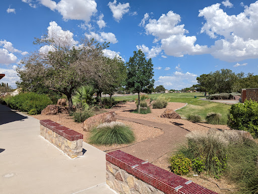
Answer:
<path fill-rule="evenodd" d="M 150 98 L 157 98 L 159 95 L 161 94 L 149 94 L 148 96 L 150 96 Z M 214 112 L 222 114 L 222 123 L 224 125 L 227 123 L 227 115 L 231 105 L 199 100 L 200 98 L 205 98 L 202 93 L 163 93 L 162 95 L 170 97 L 170 102 L 188 104 L 186 107 L 176 111 L 181 117 L 197 114 L 205 120 L 208 113 Z M 197 98 L 195 98 L 195 95 Z M 125 95 L 114 96 L 114 98 L 116 101 L 130 101 L 137 99 L 138 96 Z"/>

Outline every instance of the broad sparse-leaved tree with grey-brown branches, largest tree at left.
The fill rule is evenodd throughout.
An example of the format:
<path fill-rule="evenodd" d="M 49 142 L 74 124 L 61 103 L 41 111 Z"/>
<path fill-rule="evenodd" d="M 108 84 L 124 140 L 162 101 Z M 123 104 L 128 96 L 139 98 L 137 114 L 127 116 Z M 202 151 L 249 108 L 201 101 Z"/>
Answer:
<path fill-rule="evenodd" d="M 21 78 L 21 85 L 37 88 L 41 85 L 47 89 L 67 95 L 69 109 L 72 110 L 72 94 L 81 85 L 96 81 L 99 85 L 109 82 L 104 76 L 105 60 L 102 50 L 107 43 L 100 45 L 96 41 L 82 39 L 71 42 L 71 34 L 44 35 L 36 39 L 34 44 L 40 48 L 48 48 L 48 52 L 41 49 L 30 53 L 24 58 L 17 69 Z M 77 46 L 78 45 L 78 46 Z"/>

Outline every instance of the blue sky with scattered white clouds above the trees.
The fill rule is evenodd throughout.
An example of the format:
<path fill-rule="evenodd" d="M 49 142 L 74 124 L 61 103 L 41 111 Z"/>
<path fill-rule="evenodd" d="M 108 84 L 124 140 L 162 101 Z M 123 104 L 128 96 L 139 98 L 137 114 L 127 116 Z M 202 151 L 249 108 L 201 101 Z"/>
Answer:
<path fill-rule="evenodd" d="M 203 73 L 228 68 L 258 74 L 258 1 L 2 0 L 0 73 L 16 88 L 15 68 L 40 49 L 34 37 L 70 31 L 110 42 L 108 57 L 128 61 L 142 49 L 154 64 L 155 87 L 181 89 Z M 48 48 L 41 48 L 46 51 Z"/>

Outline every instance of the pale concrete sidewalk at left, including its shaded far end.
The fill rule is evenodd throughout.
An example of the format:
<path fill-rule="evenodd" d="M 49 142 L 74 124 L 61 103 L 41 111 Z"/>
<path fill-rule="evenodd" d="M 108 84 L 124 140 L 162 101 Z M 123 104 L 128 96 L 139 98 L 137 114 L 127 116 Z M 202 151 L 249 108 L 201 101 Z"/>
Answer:
<path fill-rule="evenodd" d="M 113 193 L 104 152 L 84 143 L 70 159 L 39 133 L 39 120 L 0 105 L 0 193 Z"/>

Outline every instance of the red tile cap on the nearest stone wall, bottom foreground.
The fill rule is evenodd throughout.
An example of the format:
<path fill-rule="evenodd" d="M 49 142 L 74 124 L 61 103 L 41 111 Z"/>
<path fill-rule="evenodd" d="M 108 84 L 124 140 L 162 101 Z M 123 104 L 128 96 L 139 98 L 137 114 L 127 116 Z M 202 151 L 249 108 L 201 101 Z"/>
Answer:
<path fill-rule="evenodd" d="M 165 193 L 216 193 L 121 150 L 106 153 L 106 160 Z"/>

